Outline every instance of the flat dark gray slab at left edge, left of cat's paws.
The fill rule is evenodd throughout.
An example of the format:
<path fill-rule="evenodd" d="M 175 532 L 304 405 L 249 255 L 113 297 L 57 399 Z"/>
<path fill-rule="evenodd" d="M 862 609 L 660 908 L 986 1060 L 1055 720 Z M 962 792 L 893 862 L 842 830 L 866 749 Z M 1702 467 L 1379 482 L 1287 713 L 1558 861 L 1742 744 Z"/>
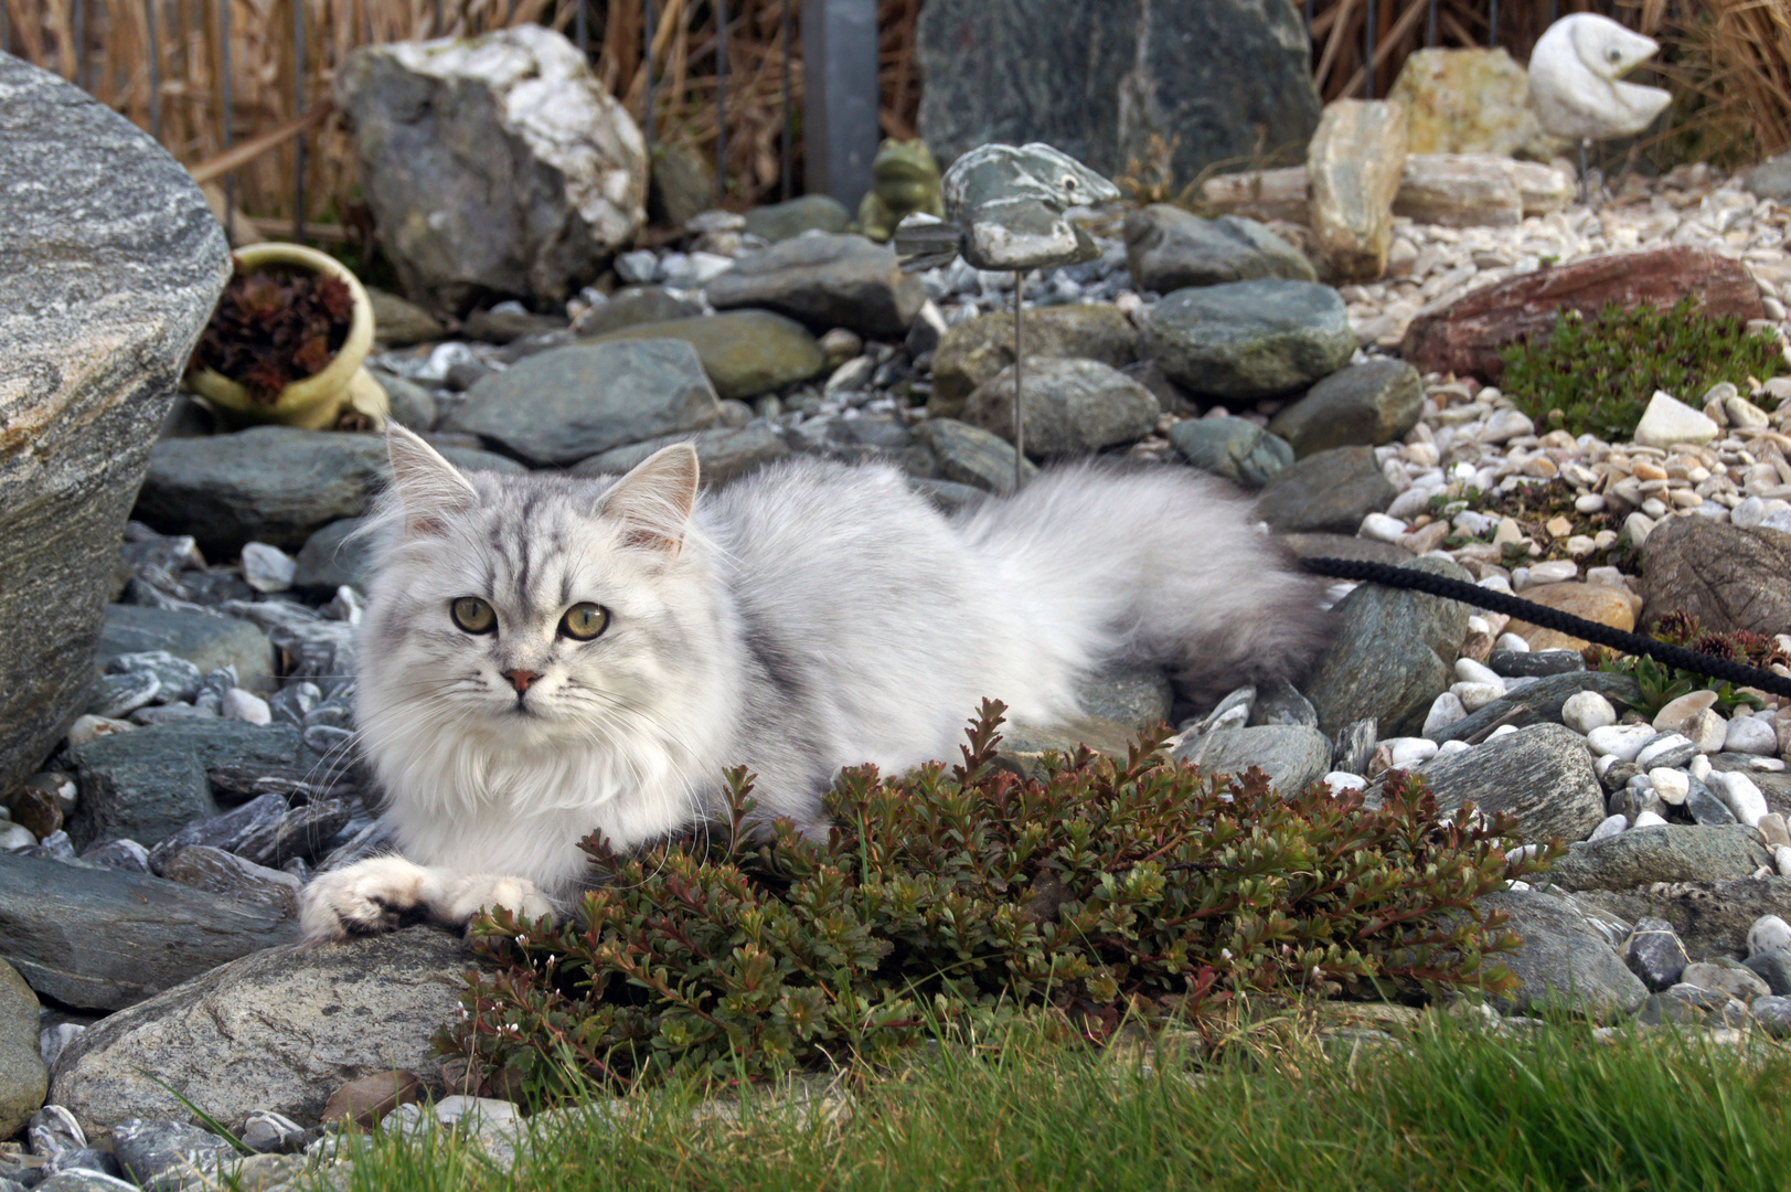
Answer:
<path fill-rule="evenodd" d="M 297 932 L 267 907 L 147 873 L 0 853 L 0 959 L 63 1006 L 124 1009 Z"/>

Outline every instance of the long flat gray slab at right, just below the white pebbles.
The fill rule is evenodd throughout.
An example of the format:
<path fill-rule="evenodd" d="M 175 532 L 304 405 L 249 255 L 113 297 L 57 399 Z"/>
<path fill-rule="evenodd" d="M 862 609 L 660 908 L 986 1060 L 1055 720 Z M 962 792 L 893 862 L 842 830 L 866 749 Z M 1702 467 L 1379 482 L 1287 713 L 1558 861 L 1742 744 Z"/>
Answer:
<path fill-rule="evenodd" d="M 1630 889 L 1650 882 L 1746 878 L 1770 864 L 1773 855 L 1761 834 L 1744 825 L 1667 825 L 1574 841 L 1540 882 L 1562 889 Z"/>

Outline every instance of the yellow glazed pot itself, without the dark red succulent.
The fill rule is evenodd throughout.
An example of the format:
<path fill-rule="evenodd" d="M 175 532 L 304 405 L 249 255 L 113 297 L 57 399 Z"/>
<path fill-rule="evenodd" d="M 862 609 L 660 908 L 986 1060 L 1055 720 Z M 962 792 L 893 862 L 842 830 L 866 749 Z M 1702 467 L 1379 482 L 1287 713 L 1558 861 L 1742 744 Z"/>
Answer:
<path fill-rule="evenodd" d="M 362 367 L 367 351 L 373 350 L 373 303 L 360 278 L 333 256 L 303 244 L 251 244 L 236 251 L 236 262 L 244 272 L 265 265 L 287 265 L 338 278 L 355 296 L 347 339 L 321 373 L 292 382 L 279 391 L 272 405 L 251 400 L 247 389 L 213 369 L 190 373 L 188 387 L 229 423 L 281 423 L 301 430 L 324 430 L 335 425 L 344 409 L 353 409 L 367 416 L 374 428 L 383 428 L 390 412 L 385 389 Z"/>

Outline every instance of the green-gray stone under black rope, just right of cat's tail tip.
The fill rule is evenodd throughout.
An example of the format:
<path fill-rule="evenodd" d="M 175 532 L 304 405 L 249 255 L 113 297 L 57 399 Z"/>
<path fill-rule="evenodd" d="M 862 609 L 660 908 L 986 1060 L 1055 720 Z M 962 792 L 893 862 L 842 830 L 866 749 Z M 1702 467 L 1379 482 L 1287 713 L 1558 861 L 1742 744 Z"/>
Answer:
<path fill-rule="evenodd" d="M 1470 581 L 1449 559 L 1420 557 L 1404 566 Z M 1469 608 L 1406 588 L 1361 584 L 1334 613 L 1336 636 L 1306 683 L 1318 726 L 1336 737 L 1345 724 L 1374 717 L 1381 737 L 1417 735 L 1431 703 L 1454 683 Z"/>

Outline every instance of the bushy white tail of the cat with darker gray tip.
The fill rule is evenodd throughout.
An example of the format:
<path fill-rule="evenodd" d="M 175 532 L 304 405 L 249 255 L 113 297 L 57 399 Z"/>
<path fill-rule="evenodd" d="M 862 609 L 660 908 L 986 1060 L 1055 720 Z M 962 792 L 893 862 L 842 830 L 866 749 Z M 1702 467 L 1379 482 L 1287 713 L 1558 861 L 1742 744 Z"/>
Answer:
<path fill-rule="evenodd" d="M 1071 672 L 1164 665 L 1209 704 L 1300 678 L 1329 638 L 1320 581 L 1255 529 L 1248 498 L 1189 468 L 1067 464 L 955 522 Z"/>

